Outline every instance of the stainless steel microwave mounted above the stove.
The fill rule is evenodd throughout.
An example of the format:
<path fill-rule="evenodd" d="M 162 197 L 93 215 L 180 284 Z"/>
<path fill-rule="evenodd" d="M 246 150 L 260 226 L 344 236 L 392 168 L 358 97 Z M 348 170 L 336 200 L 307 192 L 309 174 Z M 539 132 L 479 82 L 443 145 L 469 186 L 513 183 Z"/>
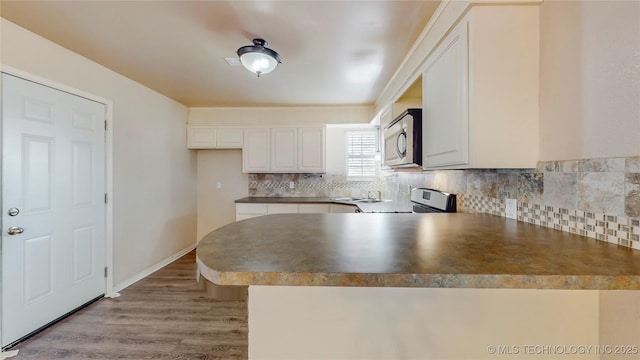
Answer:
<path fill-rule="evenodd" d="M 422 109 L 407 109 L 384 128 L 384 165 L 422 166 Z"/>

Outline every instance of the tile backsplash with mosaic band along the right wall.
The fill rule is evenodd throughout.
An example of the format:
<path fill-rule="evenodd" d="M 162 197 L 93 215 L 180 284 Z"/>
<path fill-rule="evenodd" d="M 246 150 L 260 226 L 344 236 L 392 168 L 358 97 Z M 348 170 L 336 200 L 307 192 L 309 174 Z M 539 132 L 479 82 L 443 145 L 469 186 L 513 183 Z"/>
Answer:
<path fill-rule="evenodd" d="M 458 211 L 505 216 L 640 249 L 640 157 L 542 161 L 536 169 L 396 172 L 387 193 L 430 187 L 458 195 Z"/>

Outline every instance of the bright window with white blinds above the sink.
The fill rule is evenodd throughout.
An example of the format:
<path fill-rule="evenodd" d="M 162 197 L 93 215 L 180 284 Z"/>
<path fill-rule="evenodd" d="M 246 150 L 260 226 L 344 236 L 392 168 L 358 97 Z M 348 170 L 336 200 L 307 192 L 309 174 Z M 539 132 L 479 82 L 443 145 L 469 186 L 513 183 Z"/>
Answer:
<path fill-rule="evenodd" d="M 377 175 L 375 130 L 347 131 L 347 180 L 374 180 Z"/>

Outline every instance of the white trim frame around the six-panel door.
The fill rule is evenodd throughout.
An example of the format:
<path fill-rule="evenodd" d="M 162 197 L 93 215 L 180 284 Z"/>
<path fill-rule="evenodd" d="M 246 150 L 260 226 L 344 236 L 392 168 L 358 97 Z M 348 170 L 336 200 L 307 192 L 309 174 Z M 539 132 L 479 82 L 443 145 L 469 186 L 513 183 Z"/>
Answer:
<path fill-rule="evenodd" d="M 106 193 L 108 194 L 107 208 L 105 211 L 105 265 L 108 268 L 107 278 L 105 279 L 105 296 L 109 297 L 114 295 L 113 292 L 113 101 L 105 99 L 100 96 L 96 96 L 82 90 L 45 79 L 38 75 L 16 69 L 11 66 L 0 64 L 0 72 L 17 76 L 19 78 L 33 81 L 35 83 L 48 86 L 60 91 L 64 91 L 69 94 L 77 95 L 95 102 L 99 102 L 106 106 L 107 113 L 105 118 L 107 121 L 107 129 L 105 131 L 105 186 Z M 1 185 L 1 181 L 0 181 Z M 4 229 L 2 229 L 4 231 Z M 2 265 L 2 257 L 0 257 L 0 267 Z M 2 284 L 0 284 L 2 286 Z M 1 304 L 0 304 L 1 305 Z M 1 320 L 1 319 L 0 319 Z"/>

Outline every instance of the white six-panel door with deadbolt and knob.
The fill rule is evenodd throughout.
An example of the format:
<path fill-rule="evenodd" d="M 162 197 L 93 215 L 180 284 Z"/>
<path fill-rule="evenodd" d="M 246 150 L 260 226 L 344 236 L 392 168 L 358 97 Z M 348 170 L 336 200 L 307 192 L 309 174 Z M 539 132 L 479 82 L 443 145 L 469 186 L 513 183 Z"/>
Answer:
<path fill-rule="evenodd" d="M 2 74 L 2 346 L 105 293 L 104 124 L 104 104 Z"/>

